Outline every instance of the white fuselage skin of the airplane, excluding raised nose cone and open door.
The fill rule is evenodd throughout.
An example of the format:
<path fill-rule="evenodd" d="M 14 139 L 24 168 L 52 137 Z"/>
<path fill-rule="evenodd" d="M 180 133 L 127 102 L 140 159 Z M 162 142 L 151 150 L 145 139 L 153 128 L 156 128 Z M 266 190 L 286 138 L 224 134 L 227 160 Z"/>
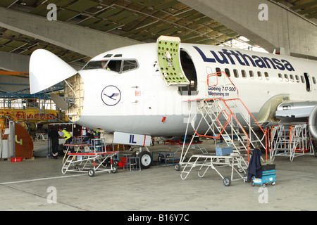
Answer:
<path fill-rule="evenodd" d="M 221 88 L 223 78 L 218 78 L 219 88 L 211 84 L 216 80 L 214 77 L 209 79 L 210 86 L 207 85 L 208 75 L 216 72 L 216 68 L 230 72 L 238 97 L 255 117 L 267 101 L 280 94 L 289 95 L 290 101 L 317 101 L 315 61 L 221 46 L 180 44 L 180 48 L 190 56 L 196 70 L 197 94 L 181 95 L 178 86 L 166 86 L 158 70 L 156 44 L 128 46 L 103 53 L 92 61 L 137 60 L 138 67 L 134 70 L 78 72 L 85 86 L 85 97 L 80 119 L 74 122 L 106 132 L 185 134 L 191 105 L 187 100 L 237 97 L 235 89 Z M 116 58 L 116 54 L 122 56 Z M 105 58 L 106 55 L 111 57 Z M 304 74 L 308 76 L 309 86 Z"/>

